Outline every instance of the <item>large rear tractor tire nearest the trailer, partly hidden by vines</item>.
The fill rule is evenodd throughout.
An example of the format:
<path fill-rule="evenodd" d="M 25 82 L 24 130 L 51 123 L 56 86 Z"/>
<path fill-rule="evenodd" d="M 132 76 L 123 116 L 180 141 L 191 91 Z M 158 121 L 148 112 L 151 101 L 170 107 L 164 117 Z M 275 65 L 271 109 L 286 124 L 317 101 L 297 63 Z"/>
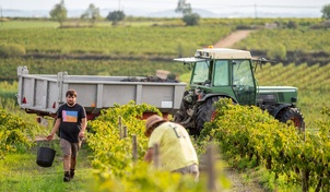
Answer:
<path fill-rule="evenodd" d="M 214 116 L 215 116 L 215 106 L 214 103 L 216 103 L 222 97 L 212 97 L 209 98 L 204 104 L 199 106 L 197 111 L 197 119 L 196 119 L 196 125 L 197 125 L 197 134 L 199 135 L 201 130 L 204 128 L 205 122 L 210 122 Z"/>

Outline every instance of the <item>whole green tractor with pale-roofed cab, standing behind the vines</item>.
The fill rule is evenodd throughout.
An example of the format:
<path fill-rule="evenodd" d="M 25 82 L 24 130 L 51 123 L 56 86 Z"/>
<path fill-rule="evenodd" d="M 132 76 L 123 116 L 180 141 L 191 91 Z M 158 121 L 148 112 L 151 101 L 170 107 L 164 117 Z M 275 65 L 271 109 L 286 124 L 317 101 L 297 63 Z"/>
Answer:
<path fill-rule="evenodd" d="M 281 122 L 292 121 L 305 129 L 304 117 L 296 107 L 297 88 L 292 86 L 258 86 L 254 70 L 270 62 L 254 59 L 249 51 L 226 48 L 198 49 L 192 58 L 178 58 L 191 68 L 190 89 L 182 97 L 174 121 L 192 135 L 199 135 L 205 122 L 215 115 L 213 105 L 231 98 L 239 105 L 258 106 Z"/>

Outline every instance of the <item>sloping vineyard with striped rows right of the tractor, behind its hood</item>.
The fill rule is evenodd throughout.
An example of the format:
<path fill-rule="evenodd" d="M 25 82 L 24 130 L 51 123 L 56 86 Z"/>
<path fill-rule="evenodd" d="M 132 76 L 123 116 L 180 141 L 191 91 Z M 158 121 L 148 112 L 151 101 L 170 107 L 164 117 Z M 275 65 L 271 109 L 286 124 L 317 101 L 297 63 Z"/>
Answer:
<path fill-rule="evenodd" d="M 323 107 L 329 107 L 330 79 L 327 71 L 330 64 L 311 65 L 307 63 L 296 65 L 291 63 L 267 64 L 262 69 L 256 70 L 256 77 L 259 85 L 292 85 L 298 87 L 297 106 L 305 116 L 306 128 L 317 129 L 316 121 L 326 120 L 327 117 L 320 116 Z"/>

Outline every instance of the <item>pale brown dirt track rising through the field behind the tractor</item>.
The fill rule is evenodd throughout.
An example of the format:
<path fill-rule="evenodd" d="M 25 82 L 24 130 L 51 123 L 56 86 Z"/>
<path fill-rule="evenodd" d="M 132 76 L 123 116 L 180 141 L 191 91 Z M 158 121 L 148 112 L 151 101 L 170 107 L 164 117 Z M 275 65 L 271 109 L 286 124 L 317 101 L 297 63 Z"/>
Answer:
<path fill-rule="evenodd" d="M 215 45 L 214 48 L 231 48 L 234 46 L 236 43 L 239 40 L 246 38 L 250 33 L 255 31 L 236 31 L 226 36 L 225 38 L 219 40 Z"/>

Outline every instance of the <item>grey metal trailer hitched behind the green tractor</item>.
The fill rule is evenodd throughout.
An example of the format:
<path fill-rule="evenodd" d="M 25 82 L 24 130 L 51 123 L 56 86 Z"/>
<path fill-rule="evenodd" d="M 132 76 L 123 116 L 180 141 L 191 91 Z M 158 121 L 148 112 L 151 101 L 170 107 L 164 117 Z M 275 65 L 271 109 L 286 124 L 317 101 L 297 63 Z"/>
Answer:
<path fill-rule="evenodd" d="M 30 74 L 27 67 L 19 67 L 17 76 L 17 104 L 27 113 L 55 118 L 58 107 L 66 103 L 67 91 L 75 89 L 76 101 L 85 108 L 89 120 L 97 117 L 103 109 L 131 100 L 137 105 L 155 106 L 166 118 L 180 108 L 187 85 L 179 82 L 125 81 L 130 76 L 69 75 L 67 72 Z"/>

